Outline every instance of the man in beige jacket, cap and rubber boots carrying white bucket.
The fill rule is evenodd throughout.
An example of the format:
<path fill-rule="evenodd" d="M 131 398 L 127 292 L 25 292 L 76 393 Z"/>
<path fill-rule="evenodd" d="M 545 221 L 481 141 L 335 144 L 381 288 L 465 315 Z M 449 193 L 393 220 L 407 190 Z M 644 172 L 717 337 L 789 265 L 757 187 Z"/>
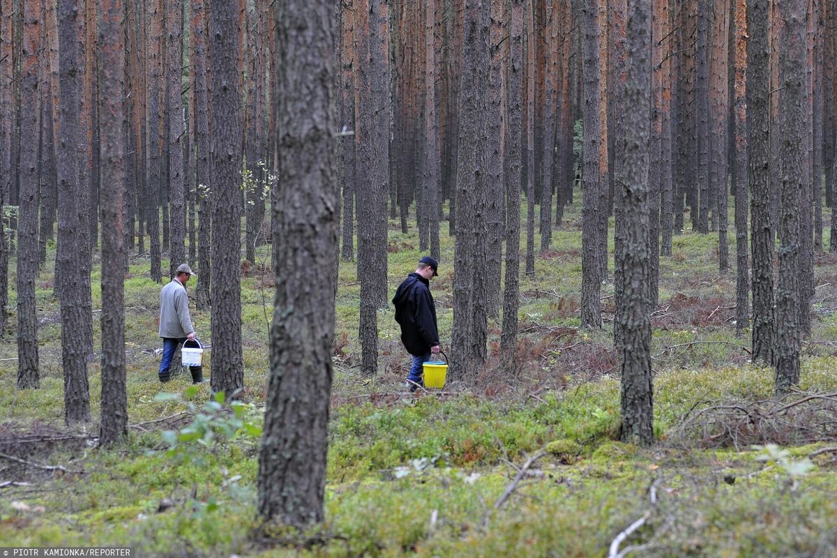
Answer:
<path fill-rule="evenodd" d="M 177 268 L 172 282 L 167 284 L 160 291 L 160 336 L 162 337 L 162 361 L 158 376 L 160 381 L 169 381 L 172 365 L 177 347 L 186 340 L 195 340 L 195 328 L 192 325 L 192 316 L 189 315 L 189 297 L 186 294 L 186 284 L 194 275 L 187 264 L 181 264 Z M 201 366 L 191 366 L 192 381 L 200 383 L 203 381 L 203 369 Z"/>

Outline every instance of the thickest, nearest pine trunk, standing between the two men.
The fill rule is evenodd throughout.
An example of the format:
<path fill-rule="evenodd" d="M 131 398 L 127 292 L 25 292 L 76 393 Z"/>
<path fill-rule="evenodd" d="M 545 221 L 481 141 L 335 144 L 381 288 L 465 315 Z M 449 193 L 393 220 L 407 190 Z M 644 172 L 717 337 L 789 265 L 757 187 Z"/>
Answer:
<path fill-rule="evenodd" d="M 334 3 L 277 5 L 280 177 L 270 385 L 259 453 L 259 514 L 323 519 L 334 340 L 337 223 Z M 357 4 L 356 4 L 357 6 Z M 316 227 L 300 227 L 316 223 Z M 319 280 L 312 281 L 311 278 Z"/>

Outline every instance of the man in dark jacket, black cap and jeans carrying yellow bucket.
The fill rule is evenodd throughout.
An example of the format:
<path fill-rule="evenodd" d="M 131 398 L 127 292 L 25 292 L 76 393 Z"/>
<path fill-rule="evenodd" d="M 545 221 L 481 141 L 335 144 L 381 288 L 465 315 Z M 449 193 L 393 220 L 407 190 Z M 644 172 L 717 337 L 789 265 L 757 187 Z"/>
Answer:
<path fill-rule="evenodd" d="M 439 328 L 436 325 L 436 305 L 430 294 L 430 279 L 438 275 L 439 264 L 429 256 L 419 260 L 414 273 L 398 285 L 393 297 L 395 321 L 401 325 L 401 342 L 413 356 L 413 366 L 407 376 L 410 392 L 422 382 L 422 368 L 432 354 L 439 352 Z"/>

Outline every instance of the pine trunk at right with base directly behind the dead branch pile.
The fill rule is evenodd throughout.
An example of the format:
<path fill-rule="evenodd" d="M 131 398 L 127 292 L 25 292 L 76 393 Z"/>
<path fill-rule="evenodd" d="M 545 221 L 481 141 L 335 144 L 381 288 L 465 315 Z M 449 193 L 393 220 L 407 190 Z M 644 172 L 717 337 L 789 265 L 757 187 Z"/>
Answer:
<path fill-rule="evenodd" d="M 776 392 L 784 394 L 799 381 L 799 320 L 804 292 L 798 274 L 804 269 L 804 243 L 800 237 L 800 203 L 804 187 L 805 2 L 779 4 L 783 26 L 779 33 L 780 133 L 782 135 L 782 190 L 779 199 L 779 273 L 776 289 Z M 757 29 L 752 29 L 755 32 Z M 751 33 L 752 37 L 752 33 Z"/>

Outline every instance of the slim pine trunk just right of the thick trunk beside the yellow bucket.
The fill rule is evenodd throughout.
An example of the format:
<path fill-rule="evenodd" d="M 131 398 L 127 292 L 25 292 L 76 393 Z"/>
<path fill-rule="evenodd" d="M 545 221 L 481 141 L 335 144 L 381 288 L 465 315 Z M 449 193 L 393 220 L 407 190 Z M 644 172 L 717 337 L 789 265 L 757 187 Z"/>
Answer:
<path fill-rule="evenodd" d="M 500 352 L 506 372 L 516 361 L 517 311 L 520 291 L 520 219 L 521 219 L 521 135 L 523 131 L 523 2 L 511 2 L 511 57 L 509 61 L 509 90 L 506 121 L 506 285 L 503 291 L 503 333 Z"/>

